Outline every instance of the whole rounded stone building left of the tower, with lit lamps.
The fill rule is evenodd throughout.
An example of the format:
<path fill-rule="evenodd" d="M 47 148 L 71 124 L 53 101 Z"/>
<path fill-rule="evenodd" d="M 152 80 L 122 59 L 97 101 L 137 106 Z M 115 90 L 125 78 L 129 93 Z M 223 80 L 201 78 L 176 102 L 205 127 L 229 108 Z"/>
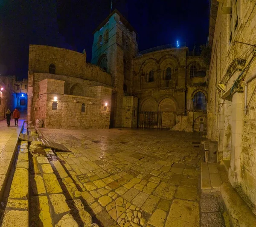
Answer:
<path fill-rule="evenodd" d="M 86 63 L 86 54 L 30 45 L 28 76 L 28 120 L 43 119 L 47 128 L 109 128 L 111 75 Z"/>

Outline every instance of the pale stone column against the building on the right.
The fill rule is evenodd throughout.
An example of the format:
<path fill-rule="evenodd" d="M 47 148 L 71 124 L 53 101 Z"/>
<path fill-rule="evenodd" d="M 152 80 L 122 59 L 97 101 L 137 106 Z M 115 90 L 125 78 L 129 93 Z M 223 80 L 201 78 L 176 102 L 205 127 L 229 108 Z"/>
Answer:
<path fill-rule="evenodd" d="M 242 134 L 242 94 L 236 92 L 232 97 L 232 136 L 231 136 L 231 159 L 228 178 L 232 186 L 240 183 L 240 154 Z"/>

